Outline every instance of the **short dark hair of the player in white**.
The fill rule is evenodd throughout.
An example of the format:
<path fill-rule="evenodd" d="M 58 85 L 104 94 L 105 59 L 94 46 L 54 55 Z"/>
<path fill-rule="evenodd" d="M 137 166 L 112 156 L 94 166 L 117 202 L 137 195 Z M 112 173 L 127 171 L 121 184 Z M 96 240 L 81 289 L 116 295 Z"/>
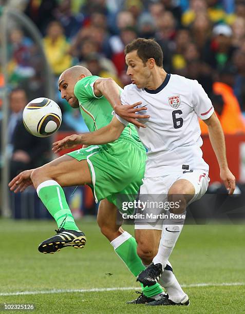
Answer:
<path fill-rule="evenodd" d="M 137 38 L 125 47 L 125 54 L 137 50 L 138 56 L 145 64 L 149 58 L 154 58 L 156 65 L 162 67 L 163 52 L 161 46 L 152 39 Z"/>

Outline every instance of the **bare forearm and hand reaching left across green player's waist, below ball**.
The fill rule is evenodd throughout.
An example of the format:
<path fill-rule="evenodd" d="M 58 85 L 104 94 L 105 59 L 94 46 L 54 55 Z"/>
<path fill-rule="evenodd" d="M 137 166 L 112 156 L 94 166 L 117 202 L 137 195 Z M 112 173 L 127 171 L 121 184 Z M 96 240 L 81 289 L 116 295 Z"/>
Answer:
<path fill-rule="evenodd" d="M 94 132 L 83 134 L 73 134 L 67 136 L 61 141 L 53 143 L 52 150 L 58 153 L 64 148 L 74 148 L 77 145 L 102 145 L 116 141 L 122 133 L 125 125 L 122 124 L 116 117 L 111 122 Z"/>

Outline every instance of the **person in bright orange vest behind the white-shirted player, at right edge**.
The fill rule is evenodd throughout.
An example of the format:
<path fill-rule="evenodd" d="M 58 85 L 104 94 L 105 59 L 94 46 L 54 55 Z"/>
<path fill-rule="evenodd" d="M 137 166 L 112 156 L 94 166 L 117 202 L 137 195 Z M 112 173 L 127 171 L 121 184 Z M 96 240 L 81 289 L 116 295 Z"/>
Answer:
<path fill-rule="evenodd" d="M 234 68 L 225 67 L 219 73 L 218 82 L 213 85 L 213 105 L 225 134 L 245 133 L 245 123 L 232 88 L 234 73 Z M 208 134 L 208 128 L 202 121 L 200 126 L 202 134 Z"/>

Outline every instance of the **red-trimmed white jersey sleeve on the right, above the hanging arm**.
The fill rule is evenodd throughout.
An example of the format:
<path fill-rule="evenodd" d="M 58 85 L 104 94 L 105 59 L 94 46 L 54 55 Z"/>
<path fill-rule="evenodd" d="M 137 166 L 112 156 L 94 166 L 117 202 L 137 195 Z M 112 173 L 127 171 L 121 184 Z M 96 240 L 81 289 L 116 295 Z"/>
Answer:
<path fill-rule="evenodd" d="M 209 96 L 196 80 L 193 81 L 192 103 L 194 111 L 201 120 L 209 119 L 214 112 L 214 107 Z"/>

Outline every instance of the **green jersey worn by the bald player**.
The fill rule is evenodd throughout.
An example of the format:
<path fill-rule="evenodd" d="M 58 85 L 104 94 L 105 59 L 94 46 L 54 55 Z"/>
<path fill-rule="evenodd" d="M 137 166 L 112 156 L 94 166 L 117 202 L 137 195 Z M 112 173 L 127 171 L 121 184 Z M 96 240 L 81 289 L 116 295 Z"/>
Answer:
<path fill-rule="evenodd" d="M 79 101 L 83 120 L 90 132 L 108 125 L 113 117 L 112 107 L 105 96 L 97 97 L 93 92 L 93 84 L 100 78 L 96 75 L 86 76 L 78 81 L 74 87 L 74 94 Z M 120 92 L 122 88 L 118 86 Z M 140 142 L 133 124 L 128 124 L 122 131 L 120 138 L 130 138 Z M 118 140 L 120 140 L 120 138 Z"/>

